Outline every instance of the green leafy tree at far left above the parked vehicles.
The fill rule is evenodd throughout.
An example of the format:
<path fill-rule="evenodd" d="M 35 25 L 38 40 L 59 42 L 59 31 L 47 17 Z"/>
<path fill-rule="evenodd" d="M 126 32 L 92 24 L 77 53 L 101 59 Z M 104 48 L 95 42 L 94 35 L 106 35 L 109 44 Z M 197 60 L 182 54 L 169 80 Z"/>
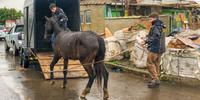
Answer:
<path fill-rule="evenodd" d="M 21 11 L 14 8 L 0 8 L 0 22 L 5 23 L 6 20 L 16 20 L 22 16 Z"/>

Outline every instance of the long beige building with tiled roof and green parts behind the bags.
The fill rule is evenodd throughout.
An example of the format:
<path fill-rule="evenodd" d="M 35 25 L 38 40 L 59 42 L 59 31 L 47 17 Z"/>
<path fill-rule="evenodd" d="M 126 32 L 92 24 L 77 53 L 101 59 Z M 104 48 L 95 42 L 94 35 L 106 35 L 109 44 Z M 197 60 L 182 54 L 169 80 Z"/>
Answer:
<path fill-rule="evenodd" d="M 141 20 L 147 21 L 145 18 L 151 12 L 164 15 L 161 20 L 167 26 L 167 33 L 198 28 L 194 28 L 192 12 L 200 7 L 193 0 L 81 0 L 80 3 L 83 31 L 101 34 L 107 27 L 114 33 Z"/>

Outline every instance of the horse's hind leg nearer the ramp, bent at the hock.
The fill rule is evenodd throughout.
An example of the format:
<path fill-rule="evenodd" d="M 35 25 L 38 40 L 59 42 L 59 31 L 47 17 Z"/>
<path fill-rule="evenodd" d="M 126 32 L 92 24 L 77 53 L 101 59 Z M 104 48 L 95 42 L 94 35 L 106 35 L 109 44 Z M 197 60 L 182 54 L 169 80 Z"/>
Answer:
<path fill-rule="evenodd" d="M 91 62 L 82 62 L 82 64 L 84 63 L 91 63 L 89 65 L 84 65 L 84 69 L 85 71 L 87 72 L 88 76 L 89 76 L 89 80 L 88 80 L 88 83 L 86 85 L 86 88 L 83 90 L 82 94 L 81 94 L 81 98 L 85 98 L 85 96 L 90 93 L 90 90 L 91 90 L 91 87 L 92 87 L 92 84 L 94 82 L 94 79 L 96 77 L 96 74 L 92 68 L 92 61 Z"/>

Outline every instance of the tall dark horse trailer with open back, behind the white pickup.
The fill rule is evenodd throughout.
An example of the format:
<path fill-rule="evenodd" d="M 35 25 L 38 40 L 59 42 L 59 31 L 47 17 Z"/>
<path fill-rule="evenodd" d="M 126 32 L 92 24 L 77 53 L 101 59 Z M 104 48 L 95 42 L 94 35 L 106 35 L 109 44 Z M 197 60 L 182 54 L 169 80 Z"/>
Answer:
<path fill-rule="evenodd" d="M 63 9 L 68 17 L 67 23 L 70 30 L 80 31 L 80 0 L 25 0 L 24 45 L 21 52 L 21 65 L 27 68 L 32 63 L 39 62 L 43 73 L 49 73 L 49 65 L 53 55 L 50 41 L 44 39 L 45 16 L 52 16 L 49 9 L 51 3 L 55 3 Z M 63 62 L 57 66 L 61 65 Z M 45 69 L 48 71 L 45 72 Z M 57 71 L 62 73 L 61 69 Z M 46 79 L 49 77 L 47 74 L 44 76 Z"/>

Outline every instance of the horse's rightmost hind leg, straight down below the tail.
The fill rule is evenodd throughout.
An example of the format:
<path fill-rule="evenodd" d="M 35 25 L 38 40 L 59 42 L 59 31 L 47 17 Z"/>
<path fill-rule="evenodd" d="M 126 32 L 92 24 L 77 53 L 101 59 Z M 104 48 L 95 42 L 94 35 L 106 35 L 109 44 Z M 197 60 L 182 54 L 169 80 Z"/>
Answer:
<path fill-rule="evenodd" d="M 103 71 L 103 77 L 104 77 L 104 86 L 103 86 L 103 91 L 104 91 L 104 99 L 109 98 L 108 94 L 108 79 L 109 79 L 109 72 L 107 71 L 104 63 L 102 62 L 102 66 L 104 71 Z"/>

